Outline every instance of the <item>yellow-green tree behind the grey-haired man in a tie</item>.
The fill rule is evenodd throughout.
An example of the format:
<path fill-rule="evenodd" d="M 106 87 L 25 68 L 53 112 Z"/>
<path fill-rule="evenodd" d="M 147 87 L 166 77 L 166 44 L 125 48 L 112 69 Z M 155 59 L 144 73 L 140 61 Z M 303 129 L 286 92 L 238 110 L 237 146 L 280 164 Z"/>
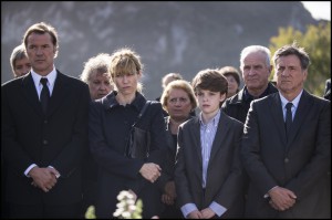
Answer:
<path fill-rule="evenodd" d="M 271 55 L 282 45 L 291 44 L 294 41 L 305 49 L 311 60 L 304 87 L 322 97 L 325 81 L 331 77 L 331 22 L 323 21 L 318 25 L 308 25 L 305 33 L 294 30 L 292 27 L 280 28 L 279 35 L 270 39 Z M 273 75 L 274 71 L 270 80 L 273 78 Z"/>

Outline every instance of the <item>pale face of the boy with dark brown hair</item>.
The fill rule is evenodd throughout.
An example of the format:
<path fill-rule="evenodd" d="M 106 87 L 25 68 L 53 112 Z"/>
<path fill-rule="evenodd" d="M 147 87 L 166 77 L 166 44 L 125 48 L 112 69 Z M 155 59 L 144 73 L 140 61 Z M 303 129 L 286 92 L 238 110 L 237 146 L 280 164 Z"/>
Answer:
<path fill-rule="evenodd" d="M 224 102 L 226 94 L 220 92 L 211 92 L 208 90 L 198 90 L 196 93 L 198 107 L 203 114 L 214 115 L 220 108 L 220 102 Z"/>

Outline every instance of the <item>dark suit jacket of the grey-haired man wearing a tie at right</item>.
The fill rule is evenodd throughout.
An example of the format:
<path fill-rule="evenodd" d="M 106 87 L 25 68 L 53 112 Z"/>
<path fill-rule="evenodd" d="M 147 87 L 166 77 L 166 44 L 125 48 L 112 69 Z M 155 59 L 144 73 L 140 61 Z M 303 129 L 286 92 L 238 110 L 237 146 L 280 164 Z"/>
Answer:
<path fill-rule="evenodd" d="M 331 218 L 331 104 L 303 91 L 289 142 L 279 93 L 253 101 L 242 140 L 250 177 L 247 217 Z M 272 187 L 292 190 L 298 199 L 287 211 L 272 209 L 263 196 Z"/>

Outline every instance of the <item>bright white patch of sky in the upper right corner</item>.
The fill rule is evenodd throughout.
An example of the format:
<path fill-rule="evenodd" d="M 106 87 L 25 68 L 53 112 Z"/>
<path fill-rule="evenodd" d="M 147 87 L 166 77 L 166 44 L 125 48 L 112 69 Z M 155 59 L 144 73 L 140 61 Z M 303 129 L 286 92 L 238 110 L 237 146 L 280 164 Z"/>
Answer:
<path fill-rule="evenodd" d="M 331 21 L 331 1 L 301 1 L 314 19 Z"/>

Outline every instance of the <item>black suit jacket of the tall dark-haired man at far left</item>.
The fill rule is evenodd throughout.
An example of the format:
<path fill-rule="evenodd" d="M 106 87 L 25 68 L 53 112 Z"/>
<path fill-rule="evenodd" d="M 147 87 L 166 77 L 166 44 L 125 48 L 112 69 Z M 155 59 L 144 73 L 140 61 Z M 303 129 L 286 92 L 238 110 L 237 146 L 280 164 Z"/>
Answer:
<path fill-rule="evenodd" d="M 8 166 L 7 200 L 65 205 L 81 200 L 81 156 L 87 150 L 90 93 L 85 83 L 58 71 L 46 115 L 31 73 L 1 86 L 1 147 Z M 53 166 L 61 177 L 43 192 L 24 170 Z"/>

